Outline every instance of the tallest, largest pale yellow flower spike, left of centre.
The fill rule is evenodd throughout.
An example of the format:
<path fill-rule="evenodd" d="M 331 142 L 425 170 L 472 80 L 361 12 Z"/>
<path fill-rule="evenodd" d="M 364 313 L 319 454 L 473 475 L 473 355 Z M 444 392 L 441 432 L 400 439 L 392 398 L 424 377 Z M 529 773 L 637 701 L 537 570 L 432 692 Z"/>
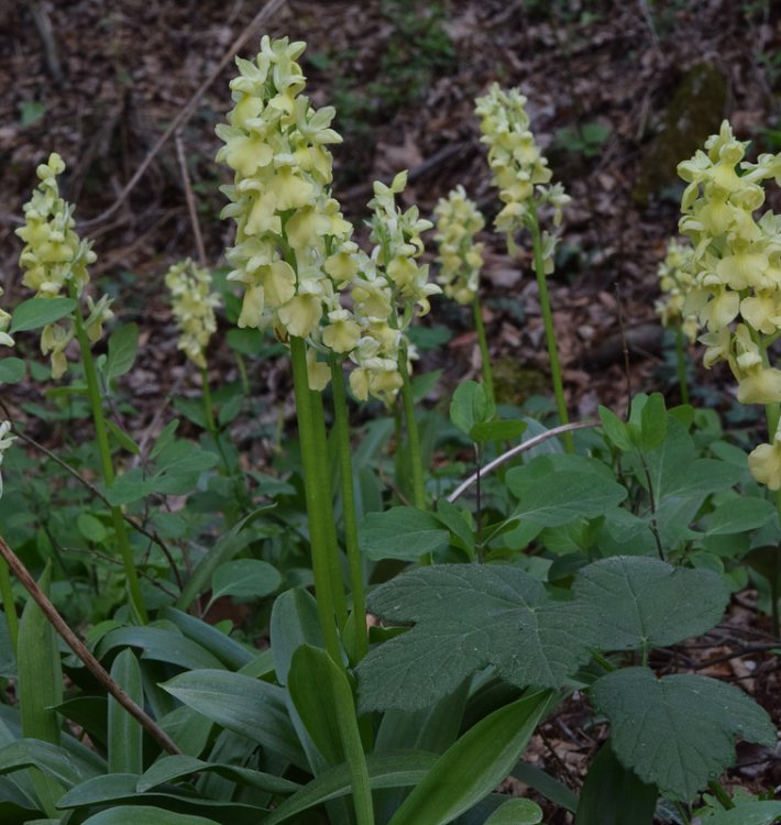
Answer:
<path fill-rule="evenodd" d="M 300 95 L 305 47 L 264 36 L 254 62 L 237 58 L 235 106 L 217 127 L 217 160 L 234 172 L 222 216 L 238 224 L 228 277 L 245 286 L 239 326 L 273 324 L 283 339 L 317 338 L 323 311 L 339 309 L 326 262 L 352 233 L 329 194 L 336 112 Z"/>

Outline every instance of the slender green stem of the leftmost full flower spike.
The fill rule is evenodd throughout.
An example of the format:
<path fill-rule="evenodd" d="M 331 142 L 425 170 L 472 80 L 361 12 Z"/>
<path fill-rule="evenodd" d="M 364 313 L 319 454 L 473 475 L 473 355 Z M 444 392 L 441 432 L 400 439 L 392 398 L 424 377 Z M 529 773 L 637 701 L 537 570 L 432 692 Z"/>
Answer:
<path fill-rule="evenodd" d="M 84 365 L 84 376 L 87 381 L 87 394 L 92 410 L 92 421 L 95 422 L 95 438 L 98 443 L 98 453 L 100 455 L 100 471 L 107 487 L 110 487 L 114 481 L 114 466 L 111 460 L 111 447 L 109 444 L 108 428 L 106 427 L 106 417 L 103 416 L 103 402 L 98 386 L 98 373 L 95 369 L 95 359 L 89 344 L 89 337 L 84 326 L 84 316 L 81 315 L 81 305 L 76 293 L 76 285 L 73 280 L 69 284 L 70 297 L 76 301 L 74 310 L 74 323 L 76 326 L 76 338 L 81 350 L 81 364 Z M 133 560 L 133 550 L 130 547 L 128 530 L 122 517 L 122 510 L 119 507 L 111 507 L 111 522 L 117 535 L 117 543 L 122 556 L 124 574 L 128 579 L 128 593 L 130 594 L 131 607 L 135 612 L 136 618 L 146 624 L 146 608 L 141 597 L 141 586 L 139 585 L 139 574 L 135 570 Z"/>

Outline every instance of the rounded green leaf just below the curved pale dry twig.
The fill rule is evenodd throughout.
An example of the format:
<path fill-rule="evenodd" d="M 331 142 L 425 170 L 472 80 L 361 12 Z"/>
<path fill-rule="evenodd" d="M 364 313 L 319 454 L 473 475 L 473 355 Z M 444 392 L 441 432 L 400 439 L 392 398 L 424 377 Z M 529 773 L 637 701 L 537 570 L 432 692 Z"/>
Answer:
<path fill-rule="evenodd" d="M 507 473 L 507 487 L 519 499 L 514 516 L 559 527 L 576 518 L 602 516 L 626 498 L 626 490 L 596 471 L 587 459 L 560 459 L 566 463 L 542 455 Z"/>

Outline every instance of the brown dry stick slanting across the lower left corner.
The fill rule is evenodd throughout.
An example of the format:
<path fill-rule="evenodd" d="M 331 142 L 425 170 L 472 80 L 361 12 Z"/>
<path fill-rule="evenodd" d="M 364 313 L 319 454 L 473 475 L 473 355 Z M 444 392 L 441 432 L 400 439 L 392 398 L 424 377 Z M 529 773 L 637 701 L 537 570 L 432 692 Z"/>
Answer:
<path fill-rule="evenodd" d="M 111 679 L 108 672 L 103 669 L 103 666 L 92 656 L 92 653 L 90 653 L 86 645 L 67 626 L 65 619 L 57 613 L 57 608 L 48 601 L 46 594 L 41 587 L 38 587 L 35 580 L 30 575 L 30 571 L 20 561 L 13 550 L 11 550 L 6 543 L 2 536 L 0 536 L 0 556 L 6 559 L 8 566 L 11 568 L 16 579 L 19 579 L 24 585 L 24 588 L 43 610 L 51 625 L 63 637 L 65 644 L 85 663 L 87 670 L 89 670 L 100 684 L 102 684 L 103 688 L 106 688 L 106 690 L 120 703 L 120 705 L 122 705 L 122 707 L 124 707 L 124 710 L 142 725 L 142 727 L 164 750 L 167 750 L 168 754 L 173 754 L 174 756 L 179 756 L 182 751 L 176 747 L 174 740 L 168 734 L 158 727 L 155 721 L 146 714 L 144 708 L 138 705 L 122 690 L 121 685 L 117 684 L 117 682 Z"/>

